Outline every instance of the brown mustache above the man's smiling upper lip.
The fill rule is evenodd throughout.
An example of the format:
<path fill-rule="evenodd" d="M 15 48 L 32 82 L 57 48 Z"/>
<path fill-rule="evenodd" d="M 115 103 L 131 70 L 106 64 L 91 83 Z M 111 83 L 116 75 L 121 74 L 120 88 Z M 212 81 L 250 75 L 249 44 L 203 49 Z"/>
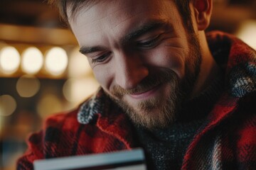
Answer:
<path fill-rule="evenodd" d="M 110 90 L 110 94 L 116 96 L 117 98 L 122 98 L 126 94 L 137 94 L 143 93 L 144 91 L 149 91 L 159 84 L 164 84 L 168 81 L 177 79 L 177 75 L 171 69 L 161 70 L 159 72 L 154 72 L 149 74 L 148 77 L 143 79 L 136 87 L 132 89 L 123 89 L 119 85 L 115 85 Z"/>

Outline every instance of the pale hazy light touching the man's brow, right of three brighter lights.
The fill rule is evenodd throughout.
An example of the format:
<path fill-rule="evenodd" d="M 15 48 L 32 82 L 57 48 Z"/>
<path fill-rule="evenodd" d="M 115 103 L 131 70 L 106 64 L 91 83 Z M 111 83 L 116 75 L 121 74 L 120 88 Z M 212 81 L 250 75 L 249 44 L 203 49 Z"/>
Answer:
<path fill-rule="evenodd" d="M 76 47 L 70 53 L 70 61 L 68 64 L 69 77 L 84 77 L 92 72 L 90 64 L 85 55 L 79 52 L 79 47 Z"/>

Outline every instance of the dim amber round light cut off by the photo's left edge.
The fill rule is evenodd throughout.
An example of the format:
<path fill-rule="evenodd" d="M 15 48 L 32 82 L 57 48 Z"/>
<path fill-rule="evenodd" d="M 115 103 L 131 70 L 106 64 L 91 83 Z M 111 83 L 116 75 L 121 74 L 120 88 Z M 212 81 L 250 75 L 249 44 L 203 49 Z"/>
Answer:
<path fill-rule="evenodd" d="M 17 104 L 15 99 L 10 95 L 0 96 L 0 116 L 8 116 L 14 113 Z"/>

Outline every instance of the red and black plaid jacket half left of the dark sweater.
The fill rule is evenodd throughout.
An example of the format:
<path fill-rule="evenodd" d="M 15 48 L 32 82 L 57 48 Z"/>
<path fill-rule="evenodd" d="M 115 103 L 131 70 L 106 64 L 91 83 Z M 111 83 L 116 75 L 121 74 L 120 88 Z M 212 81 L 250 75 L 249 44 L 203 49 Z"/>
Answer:
<path fill-rule="evenodd" d="M 97 113 L 97 107 L 94 105 L 91 108 L 93 115 L 90 115 L 93 119 L 90 117 L 91 121 L 86 125 L 78 122 L 78 112 L 92 106 L 91 98 L 75 111 L 48 118 L 43 130 L 28 138 L 28 149 L 18 160 L 17 169 L 33 169 L 33 161 L 36 159 L 131 149 L 132 133 L 129 132 L 132 131 L 132 125 L 104 96 L 102 90 L 96 95 L 103 105 L 107 104 L 104 109 L 108 112 Z"/>

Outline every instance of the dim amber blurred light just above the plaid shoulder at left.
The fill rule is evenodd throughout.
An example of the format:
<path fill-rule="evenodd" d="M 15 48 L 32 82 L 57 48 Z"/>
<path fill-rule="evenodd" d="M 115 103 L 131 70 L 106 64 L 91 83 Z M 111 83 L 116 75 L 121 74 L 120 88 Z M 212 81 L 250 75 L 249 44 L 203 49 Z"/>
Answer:
<path fill-rule="evenodd" d="M 46 118 L 48 115 L 62 111 L 63 105 L 57 96 L 45 94 L 38 102 L 36 110 L 41 118 Z"/>

